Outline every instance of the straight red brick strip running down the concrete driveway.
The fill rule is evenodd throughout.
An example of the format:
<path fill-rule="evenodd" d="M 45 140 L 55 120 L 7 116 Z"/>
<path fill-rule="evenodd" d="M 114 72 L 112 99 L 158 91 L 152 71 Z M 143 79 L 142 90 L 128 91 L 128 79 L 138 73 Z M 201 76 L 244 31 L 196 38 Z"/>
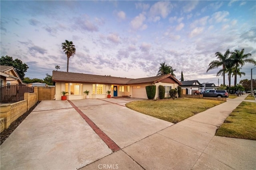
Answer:
<path fill-rule="evenodd" d="M 116 152 L 120 150 L 120 148 L 108 137 L 100 128 L 93 123 L 89 117 L 87 117 L 76 105 L 74 105 L 70 100 L 68 102 L 71 104 L 72 107 L 82 116 L 82 118 L 90 125 L 90 127 L 97 133 L 97 135 L 108 145 L 108 147 L 113 151 Z"/>

